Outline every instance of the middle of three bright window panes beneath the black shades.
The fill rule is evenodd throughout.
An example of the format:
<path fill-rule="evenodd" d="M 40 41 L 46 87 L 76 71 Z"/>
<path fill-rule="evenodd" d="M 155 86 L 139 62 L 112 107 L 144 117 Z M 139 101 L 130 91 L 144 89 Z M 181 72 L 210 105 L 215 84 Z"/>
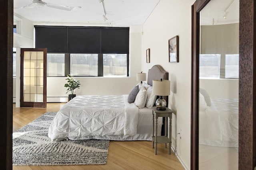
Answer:
<path fill-rule="evenodd" d="M 98 76 L 98 54 L 70 54 L 72 76 Z"/>

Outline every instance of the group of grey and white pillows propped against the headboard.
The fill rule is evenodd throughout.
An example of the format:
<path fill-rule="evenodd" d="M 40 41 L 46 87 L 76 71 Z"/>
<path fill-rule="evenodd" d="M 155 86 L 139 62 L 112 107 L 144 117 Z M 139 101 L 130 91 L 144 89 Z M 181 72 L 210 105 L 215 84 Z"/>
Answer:
<path fill-rule="evenodd" d="M 128 103 L 133 103 L 139 107 L 148 107 L 151 109 L 156 102 L 156 95 L 153 94 L 152 86 L 146 83 L 139 83 L 128 95 Z"/>

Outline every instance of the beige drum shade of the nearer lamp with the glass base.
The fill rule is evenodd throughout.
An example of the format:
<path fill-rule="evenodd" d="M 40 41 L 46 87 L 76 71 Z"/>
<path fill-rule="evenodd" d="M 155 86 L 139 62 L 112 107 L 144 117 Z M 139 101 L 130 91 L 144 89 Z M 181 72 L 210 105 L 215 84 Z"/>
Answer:
<path fill-rule="evenodd" d="M 156 96 L 170 95 L 170 80 L 153 80 L 153 94 Z"/>

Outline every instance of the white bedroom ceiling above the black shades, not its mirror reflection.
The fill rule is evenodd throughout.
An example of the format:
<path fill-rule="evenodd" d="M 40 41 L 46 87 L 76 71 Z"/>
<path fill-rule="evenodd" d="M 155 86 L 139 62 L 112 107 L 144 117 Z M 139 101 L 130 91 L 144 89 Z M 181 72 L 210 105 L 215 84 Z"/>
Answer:
<path fill-rule="evenodd" d="M 27 18 L 37 25 L 102 25 L 128 27 L 142 25 L 160 0 L 104 0 L 104 9 L 99 0 L 43 0 L 46 3 L 65 6 L 81 6 L 74 11 L 56 8 L 22 8 L 32 0 L 14 0 L 14 13 Z"/>

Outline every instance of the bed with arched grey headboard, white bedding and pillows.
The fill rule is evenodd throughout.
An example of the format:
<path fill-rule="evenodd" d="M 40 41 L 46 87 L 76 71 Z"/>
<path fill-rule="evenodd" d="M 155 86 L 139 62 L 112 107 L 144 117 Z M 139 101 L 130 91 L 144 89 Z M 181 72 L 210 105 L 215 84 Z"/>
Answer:
<path fill-rule="evenodd" d="M 52 121 L 48 137 L 52 141 L 107 139 L 116 141 L 152 140 L 152 80 L 168 80 L 168 72 L 154 65 L 147 83 L 136 85 L 121 96 L 77 96 L 66 103 Z M 132 92 L 138 90 L 130 102 Z M 128 102 L 129 101 L 129 102 Z M 162 124 L 162 119 L 158 119 Z M 161 127 L 157 129 L 161 132 Z"/>

